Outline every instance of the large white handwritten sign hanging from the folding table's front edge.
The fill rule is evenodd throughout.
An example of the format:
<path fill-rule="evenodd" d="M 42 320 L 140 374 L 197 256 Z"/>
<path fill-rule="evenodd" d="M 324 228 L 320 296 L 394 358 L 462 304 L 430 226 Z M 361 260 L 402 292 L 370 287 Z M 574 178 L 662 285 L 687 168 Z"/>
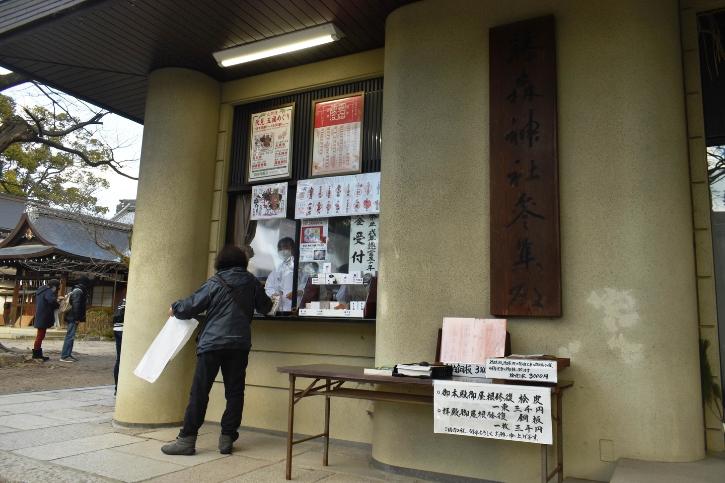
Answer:
<path fill-rule="evenodd" d="M 552 444 L 549 387 L 433 381 L 434 432 Z"/>

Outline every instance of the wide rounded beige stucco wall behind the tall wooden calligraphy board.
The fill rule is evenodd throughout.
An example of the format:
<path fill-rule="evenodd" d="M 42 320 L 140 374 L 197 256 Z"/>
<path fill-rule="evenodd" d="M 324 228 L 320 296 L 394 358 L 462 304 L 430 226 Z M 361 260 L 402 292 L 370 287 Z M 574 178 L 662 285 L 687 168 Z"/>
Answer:
<path fill-rule="evenodd" d="M 444 316 L 490 316 L 488 29 L 550 13 L 564 315 L 508 329 L 515 353 L 571 357 L 566 475 L 608 481 L 617 458 L 704 456 L 676 0 L 424 0 L 389 16 L 376 364 L 430 361 Z M 376 404 L 381 463 L 523 483 L 539 455 Z"/>

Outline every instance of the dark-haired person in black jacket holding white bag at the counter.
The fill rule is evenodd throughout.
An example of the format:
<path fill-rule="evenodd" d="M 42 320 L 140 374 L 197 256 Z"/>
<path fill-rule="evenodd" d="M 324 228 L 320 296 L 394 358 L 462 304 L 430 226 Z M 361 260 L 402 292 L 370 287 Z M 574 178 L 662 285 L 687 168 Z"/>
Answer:
<path fill-rule="evenodd" d="M 244 408 L 244 378 L 247 374 L 249 349 L 252 348 L 252 322 L 254 308 L 267 314 L 272 301 L 254 275 L 247 272 L 247 254 L 236 245 L 225 245 L 214 262 L 217 270 L 199 290 L 183 301 L 176 301 L 169 315 L 188 320 L 207 311 L 196 340 L 196 371 L 191 383 L 183 427 L 176 442 L 161 448 L 167 455 L 193 455 L 196 436 L 204 424 L 209 392 L 219 369 L 224 378 L 224 395 L 227 401 L 222 416 L 219 436 L 219 452 L 231 453 L 232 443 L 239 438 L 241 411 Z M 234 300 L 222 282 L 237 295 L 241 306 Z"/>

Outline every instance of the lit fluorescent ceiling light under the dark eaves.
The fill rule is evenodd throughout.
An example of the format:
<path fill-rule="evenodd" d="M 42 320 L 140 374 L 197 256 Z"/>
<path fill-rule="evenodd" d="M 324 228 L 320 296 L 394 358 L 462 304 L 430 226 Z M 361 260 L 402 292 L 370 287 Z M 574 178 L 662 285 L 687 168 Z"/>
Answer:
<path fill-rule="evenodd" d="M 339 41 L 344 37 L 335 25 L 326 23 L 317 27 L 297 30 L 297 32 L 285 33 L 276 37 L 265 38 L 262 41 L 245 43 L 241 46 L 232 47 L 214 53 L 214 58 L 220 67 L 252 62 L 257 59 L 264 59 L 299 49 L 318 46 L 323 43 Z"/>

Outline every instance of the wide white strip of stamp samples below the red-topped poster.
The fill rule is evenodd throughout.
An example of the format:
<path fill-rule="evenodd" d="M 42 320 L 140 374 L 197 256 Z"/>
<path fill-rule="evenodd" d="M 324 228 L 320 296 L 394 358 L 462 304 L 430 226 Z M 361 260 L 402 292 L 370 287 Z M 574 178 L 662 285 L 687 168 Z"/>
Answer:
<path fill-rule="evenodd" d="M 380 213 L 380 173 L 299 180 L 296 219 Z"/>

